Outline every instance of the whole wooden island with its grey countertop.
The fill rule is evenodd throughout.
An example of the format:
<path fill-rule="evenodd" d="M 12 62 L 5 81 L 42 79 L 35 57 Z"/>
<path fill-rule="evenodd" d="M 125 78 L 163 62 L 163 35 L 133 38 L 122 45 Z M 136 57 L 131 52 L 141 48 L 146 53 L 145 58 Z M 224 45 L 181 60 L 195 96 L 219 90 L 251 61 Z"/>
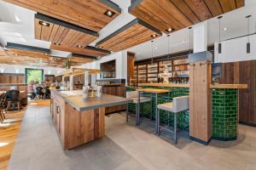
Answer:
<path fill-rule="evenodd" d="M 83 99 L 81 90 L 52 91 L 50 113 L 63 149 L 70 150 L 102 138 L 105 135 L 105 108 L 130 101 L 109 94 Z"/>

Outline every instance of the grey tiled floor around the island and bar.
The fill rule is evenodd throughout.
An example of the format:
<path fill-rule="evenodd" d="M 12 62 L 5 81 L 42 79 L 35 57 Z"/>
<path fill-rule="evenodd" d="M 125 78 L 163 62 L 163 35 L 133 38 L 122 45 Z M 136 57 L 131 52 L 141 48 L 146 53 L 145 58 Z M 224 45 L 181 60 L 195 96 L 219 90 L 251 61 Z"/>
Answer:
<path fill-rule="evenodd" d="M 63 151 L 49 106 L 29 107 L 8 169 L 256 169 L 254 127 L 240 125 L 236 141 L 212 140 L 205 146 L 189 140 L 186 133 L 174 145 L 168 136 L 155 136 L 153 128 L 145 122 L 140 128 L 126 124 L 125 114 L 106 116 L 106 126 L 103 139 Z"/>

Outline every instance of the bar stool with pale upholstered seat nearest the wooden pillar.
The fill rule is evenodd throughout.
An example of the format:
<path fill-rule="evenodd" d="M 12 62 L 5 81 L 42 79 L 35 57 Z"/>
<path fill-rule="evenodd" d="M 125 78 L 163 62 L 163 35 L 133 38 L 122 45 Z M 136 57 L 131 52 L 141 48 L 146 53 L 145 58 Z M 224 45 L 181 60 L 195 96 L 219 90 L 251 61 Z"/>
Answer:
<path fill-rule="evenodd" d="M 167 111 L 168 114 L 174 114 L 174 130 L 161 127 L 174 133 L 174 142 L 177 144 L 177 114 L 181 111 L 189 110 L 189 96 L 180 96 L 173 98 L 172 102 L 157 105 L 157 134 L 160 135 L 160 110 Z M 169 121 L 169 120 L 168 120 Z"/>

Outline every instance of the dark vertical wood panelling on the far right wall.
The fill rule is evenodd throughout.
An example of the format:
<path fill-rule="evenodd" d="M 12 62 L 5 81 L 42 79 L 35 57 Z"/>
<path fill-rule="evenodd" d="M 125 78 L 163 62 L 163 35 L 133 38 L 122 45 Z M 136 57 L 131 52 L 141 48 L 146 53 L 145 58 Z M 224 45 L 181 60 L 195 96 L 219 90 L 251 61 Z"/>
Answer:
<path fill-rule="evenodd" d="M 256 124 L 256 60 L 223 64 L 221 83 L 247 84 L 239 90 L 239 121 Z"/>

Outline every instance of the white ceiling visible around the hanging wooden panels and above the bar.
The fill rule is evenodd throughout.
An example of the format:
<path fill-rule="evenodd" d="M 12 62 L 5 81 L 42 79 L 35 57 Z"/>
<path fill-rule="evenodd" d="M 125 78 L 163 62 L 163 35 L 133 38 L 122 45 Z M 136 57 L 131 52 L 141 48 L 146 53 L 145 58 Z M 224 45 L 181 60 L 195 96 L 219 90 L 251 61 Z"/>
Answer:
<path fill-rule="evenodd" d="M 131 5 L 131 0 L 112 0 L 122 8 L 122 14 L 105 26 L 99 32 L 100 37 L 92 42 L 96 42 L 107 37 L 113 31 L 118 30 L 120 27 L 125 26 L 128 22 L 135 19 L 135 17 L 128 13 L 128 7 Z M 16 42 L 41 48 L 49 48 L 50 42 L 44 42 L 34 39 L 34 14 L 35 12 L 26 8 L 15 6 L 11 3 L 5 3 L 0 0 L 0 42 L 5 45 L 6 42 Z M 238 37 L 247 34 L 247 20 L 245 16 L 252 14 L 251 18 L 251 33 L 255 32 L 256 24 L 256 0 L 246 0 L 244 8 L 236 9 L 230 13 L 224 14 L 221 20 L 221 39 L 230 37 Z M 218 42 L 218 20 L 213 18 L 208 20 L 208 44 Z M 224 31 L 223 28 L 228 28 Z M 192 35 L 192 34 L 191 34 Z M 173 32 L 169 37 L 170 53 L 175 53 L 189 48 L 189 30 L 187 28 Z M 137 59 L 147 59 L 152 55 L 152 43 L 144 42 L 133 48 L 127 49 L 136 53 Z M 167 54 L 167 37 L 159 37 L 153 42 L 153 55 L 159 56 Z M 70 53 L 53 50 L 56 56 L 67 57 Z"/>

